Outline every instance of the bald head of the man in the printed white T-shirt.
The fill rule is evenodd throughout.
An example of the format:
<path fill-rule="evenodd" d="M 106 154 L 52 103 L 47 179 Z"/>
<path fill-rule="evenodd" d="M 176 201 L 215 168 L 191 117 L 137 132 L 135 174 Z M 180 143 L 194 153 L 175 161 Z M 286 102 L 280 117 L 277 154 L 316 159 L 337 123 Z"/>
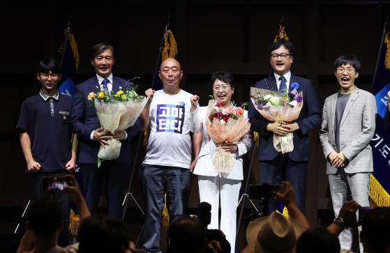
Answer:
<path fill-rule="evenodd" d="M 164 84 L 164 89 L 179 89 L 180 80 L 183 77 L 179 61 L 173 58 L 163 61 L 158 76 Z"/>

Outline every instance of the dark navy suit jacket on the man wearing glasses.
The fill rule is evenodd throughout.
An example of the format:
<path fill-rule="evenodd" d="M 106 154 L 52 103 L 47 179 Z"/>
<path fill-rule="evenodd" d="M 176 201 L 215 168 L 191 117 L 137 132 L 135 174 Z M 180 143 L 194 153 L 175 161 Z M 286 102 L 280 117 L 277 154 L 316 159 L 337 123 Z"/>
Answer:
<path fill-rule="evenodd" d="M 303 91 L 303 107 L 297 121 L 295 121 L 300 129 L 294 132 L 294 151 L 290 152 L 289 155 L 294 161 L 308 161 L 310 160 L 308 132 L 321 123 L 320 107 L 318 105 L 317 93 L 315 93 L 310 80 L 291 75 L 289 91 L 292 91 L 291 84 L 294 82 L 299 84 L 297 91 Z M 275 76 L 272 75 L 257 82 L 255 88 L 278 91 Z M 257 160 L 269 161 L 275 159 L 278 151 L 273 147 L 273 132 L 267 131 L 269 121 L 257 112 L 251 101 L 249 102 L 248 117 L 250 118 L 250 129 L 257 132 L 260 137 Z"/>

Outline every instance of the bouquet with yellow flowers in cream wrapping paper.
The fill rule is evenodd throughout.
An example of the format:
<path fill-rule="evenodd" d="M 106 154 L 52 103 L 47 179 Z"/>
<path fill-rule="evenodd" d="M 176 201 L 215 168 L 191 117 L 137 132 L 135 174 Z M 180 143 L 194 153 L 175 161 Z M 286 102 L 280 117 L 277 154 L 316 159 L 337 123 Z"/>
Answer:
<path fill-rule="evenodd" d="M 99 89 L 99 87 L 96 88 Z M 133 126 L 149 100 L 149 97 L 144 98 L 144 95 L 137 95 L 136 86 L 124 91 L 122 91 L 122 87 L 119 89 L 117 93 L 99 91 L 97 94 L 91 92 L 88 95 L 89 106 L 95 105 L 104 132 L 113 133 L 115 130 L 126 130 Z M 110 144 L 109 146 L 105 146 L 105 148 L 100 146 L 98 158 L 103 160 L 118 158 L 121 152 L 121 141 L 110 139 L 107 142 Z"/>

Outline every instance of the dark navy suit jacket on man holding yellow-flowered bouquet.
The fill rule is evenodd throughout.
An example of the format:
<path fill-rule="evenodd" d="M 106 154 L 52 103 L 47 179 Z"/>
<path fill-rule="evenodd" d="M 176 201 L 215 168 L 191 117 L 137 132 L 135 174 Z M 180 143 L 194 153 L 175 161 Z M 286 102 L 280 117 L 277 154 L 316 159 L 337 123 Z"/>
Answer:
<path fill-rule="evenodd" d="M 126 80 L 119 77 L 112 77 L 112 91 L 117 93 L 119 86 L 122 90 L 133 87 L 133 84 L 126 86 Z M 96 88 L 98 87 L 98 88 Z M 93 91 L 98 93 L 100 86 L 98 84 L 98 78 L 96 76 L 88 79 L 76 86 L 75 97 L 73 98 L 73 109 L 70 123 L 72 124 L 73 132 L 77 134 L 77 139 L 80 143 L 79 146 L 79 159 L 80 163 L 98 163 L 98 152 L 100 143 L 98 141 L 91 140 L 91 132 L 100 128 L 100 122 L 98 115 L 96 114 L 95 106 L 89 106 L 88 95 Z M 121 153 L 117 161 L 120 164 L 130 164 L 130 140 L 140 131 L 142 125 L 142 119 L 139 117 L 135 124 L 126 129 L 127 139 L 121 141 Z"/>

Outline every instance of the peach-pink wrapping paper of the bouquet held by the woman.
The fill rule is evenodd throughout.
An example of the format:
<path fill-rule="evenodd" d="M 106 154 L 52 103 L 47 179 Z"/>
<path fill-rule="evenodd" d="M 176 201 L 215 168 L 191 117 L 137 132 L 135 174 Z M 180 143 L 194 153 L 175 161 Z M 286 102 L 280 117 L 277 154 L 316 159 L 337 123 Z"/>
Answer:
<path fill-rule="evenodd" d="M 217 102 L 217 100 L 209 101 L 206 115 L 206 129 L 211 139 L 213 139 L 218 146 L 216 153 L 212 157 L 216 172 L 222 176 L 222 174 L 230 174 L 234 167 L 234 162 L 236 161 L 232 153 L 223 150 L 223 148 L 220 147 L 220 144 L 222 144 L 223 141 L 239 141 L 243 135 L 249 131 L 250 123 L 248 122 L 248 118 L 241 117 L 238 120 L 229 118 L 226 124 L 220 124 L 220 121 L 217 118 L 214 118 L 213 123 L 211 124 L 209 115 Z"/>

